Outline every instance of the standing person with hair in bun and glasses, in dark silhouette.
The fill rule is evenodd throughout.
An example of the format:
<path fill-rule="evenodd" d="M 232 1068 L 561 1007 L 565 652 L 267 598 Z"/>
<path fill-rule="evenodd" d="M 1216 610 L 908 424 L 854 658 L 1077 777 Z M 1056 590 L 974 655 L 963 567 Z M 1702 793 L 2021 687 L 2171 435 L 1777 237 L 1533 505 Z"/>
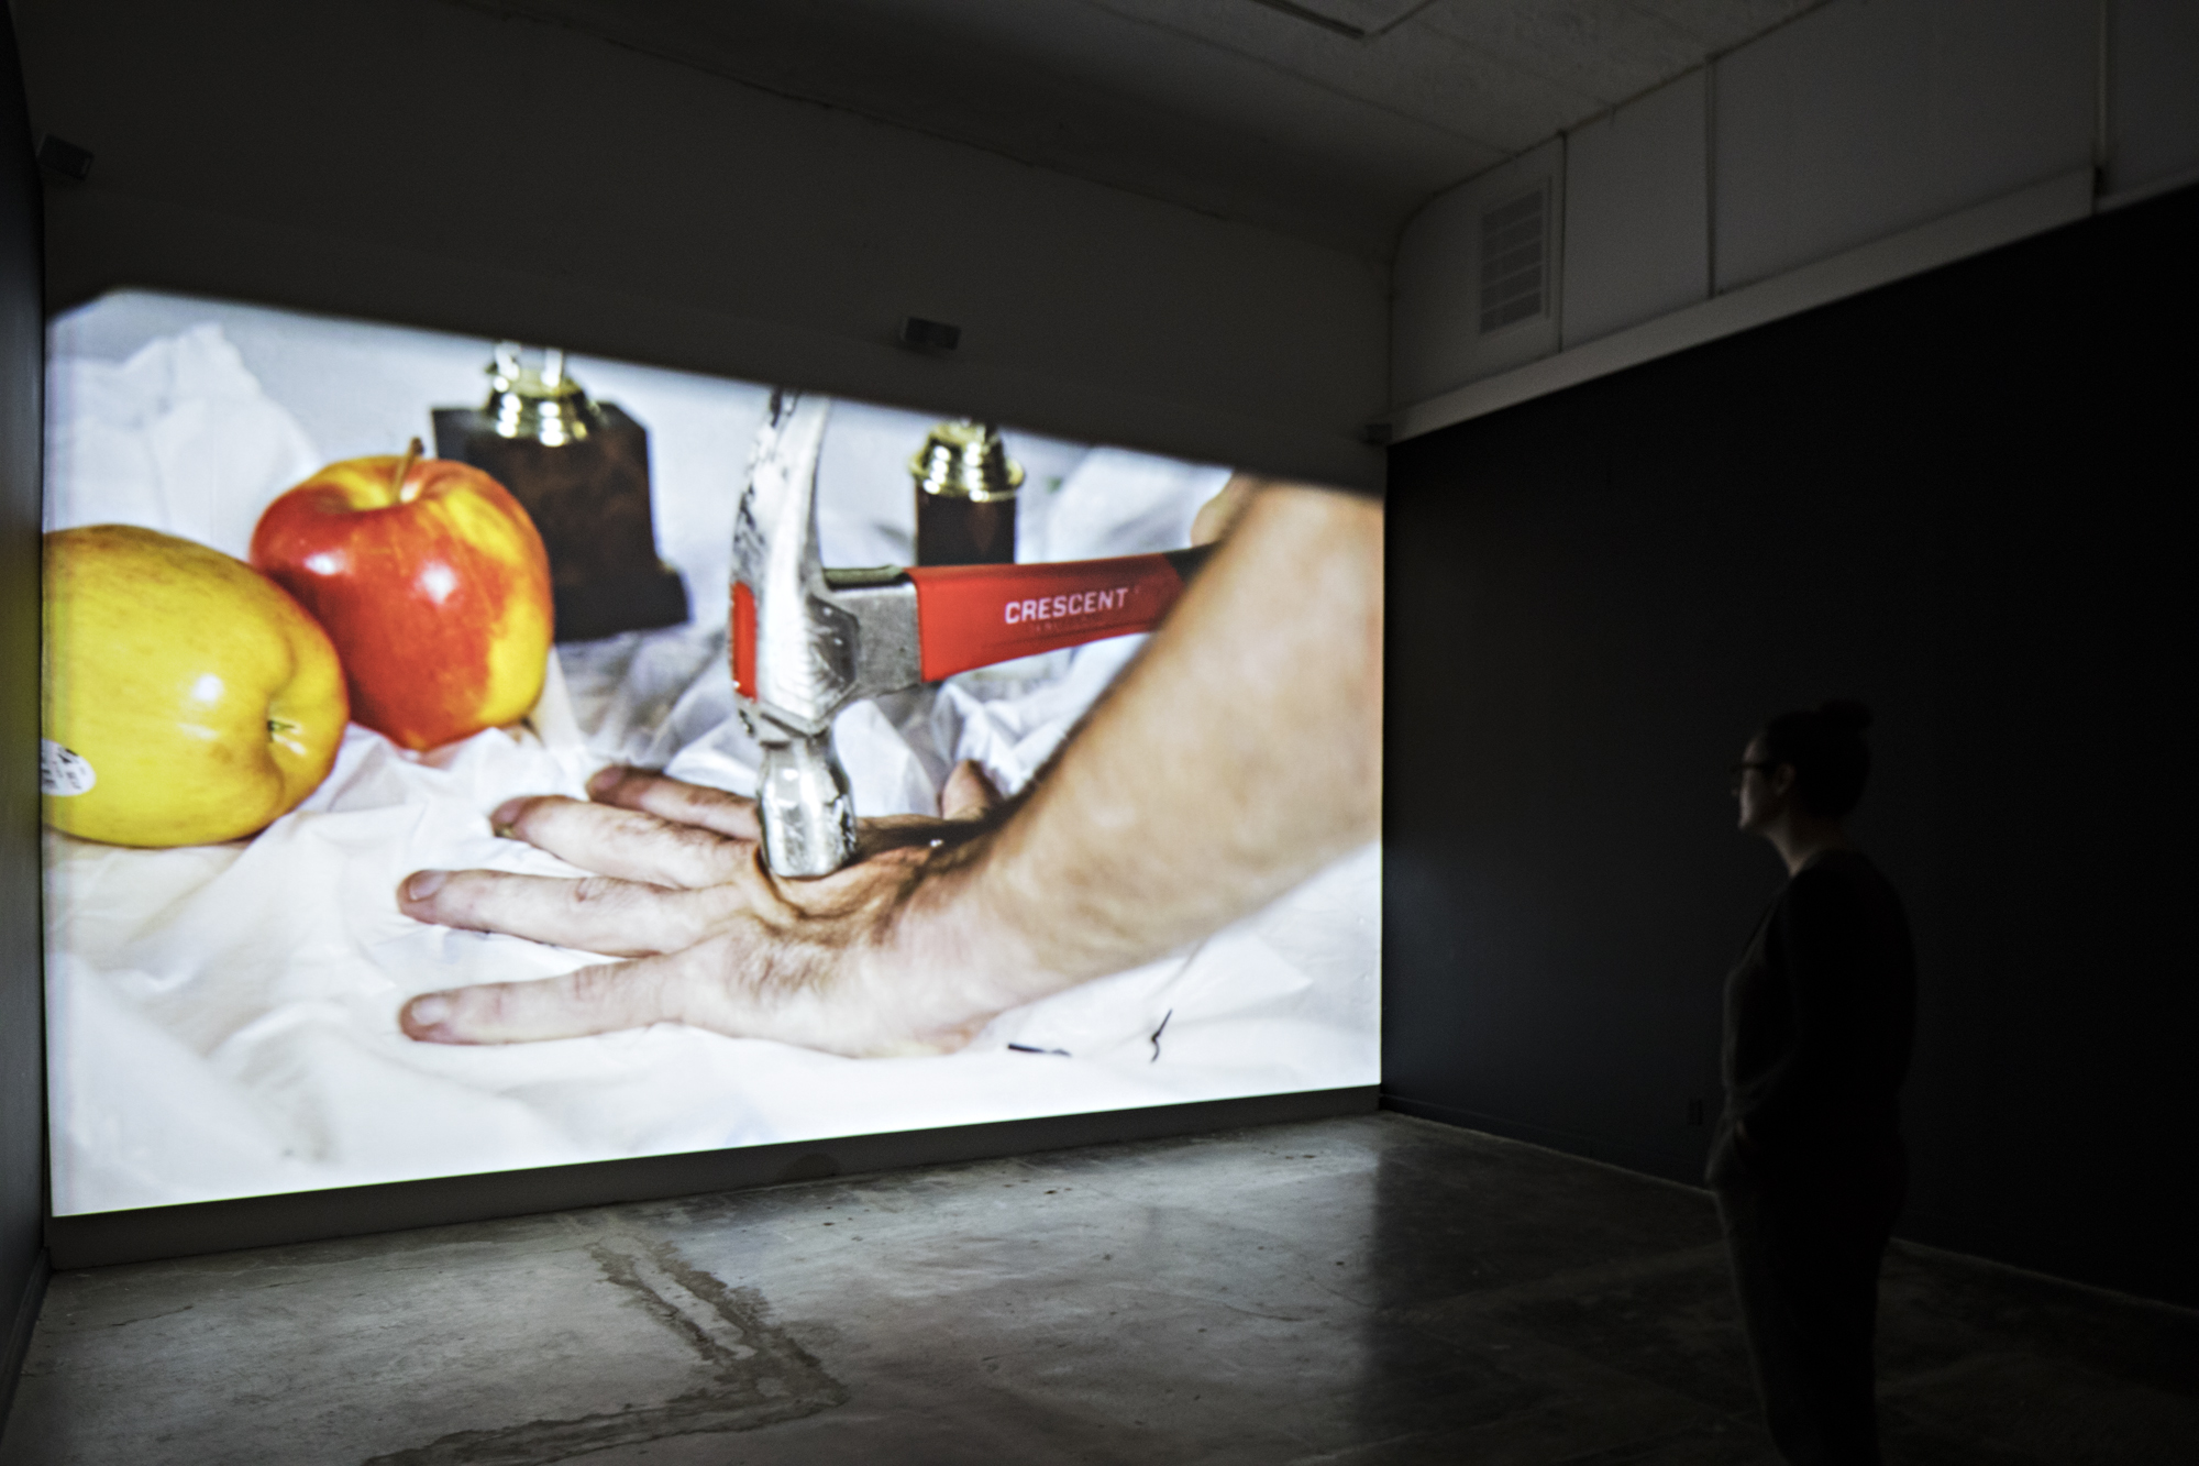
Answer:
<path fill-rule="evenodd" d="M 1869 722 L 1860 702 L 1781 713 L 1733 770 L 1739 825 L 1772 843 L 1788 883 L 1726 977 L 1709 1182 L 1764 1418 L 1797 1466 L 1880 1459 L 1878 1266 L 1909 1182 L 1909 918 L 1841 828 L 1871 768 Z"/>

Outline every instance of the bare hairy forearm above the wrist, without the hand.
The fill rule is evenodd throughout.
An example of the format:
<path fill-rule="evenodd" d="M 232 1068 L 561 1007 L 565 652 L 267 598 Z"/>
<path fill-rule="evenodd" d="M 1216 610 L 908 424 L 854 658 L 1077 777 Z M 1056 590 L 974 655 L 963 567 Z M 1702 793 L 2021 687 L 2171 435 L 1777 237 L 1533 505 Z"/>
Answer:
<path fill-rule="evenodd" d="M 1031 797 L 941 883 L 937 916 L 965 927 L 965 951 L 998 938 L 1016 1002 L 1198 940 L 1377 834 L 1381 535 L 1368 500 L 1267 486 Z"/>

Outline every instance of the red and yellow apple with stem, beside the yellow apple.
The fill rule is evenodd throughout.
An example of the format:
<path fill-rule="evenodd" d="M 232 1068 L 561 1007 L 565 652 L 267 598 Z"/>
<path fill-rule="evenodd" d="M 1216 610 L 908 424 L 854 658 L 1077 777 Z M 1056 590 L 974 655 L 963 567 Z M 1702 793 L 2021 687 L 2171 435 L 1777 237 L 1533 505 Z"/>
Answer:
<path fill-rule="evenodd" d="M 345 458 L 259 515 L 253 566 L 328 630 L 352 718 L 407 748 L 517 722 L 550 658 L 550 557 L 497 480 L 446 458 Z"/>

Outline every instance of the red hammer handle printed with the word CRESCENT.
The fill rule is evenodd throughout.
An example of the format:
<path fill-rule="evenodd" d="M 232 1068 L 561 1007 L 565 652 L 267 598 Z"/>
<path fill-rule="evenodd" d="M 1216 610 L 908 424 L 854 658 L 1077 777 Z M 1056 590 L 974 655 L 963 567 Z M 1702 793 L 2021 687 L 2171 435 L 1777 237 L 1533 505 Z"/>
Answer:
<path fill-rule="evenodd" d="M 1051 566 L 910 566 L 924 680 L 1150 632 L 1205 550 Z"/>

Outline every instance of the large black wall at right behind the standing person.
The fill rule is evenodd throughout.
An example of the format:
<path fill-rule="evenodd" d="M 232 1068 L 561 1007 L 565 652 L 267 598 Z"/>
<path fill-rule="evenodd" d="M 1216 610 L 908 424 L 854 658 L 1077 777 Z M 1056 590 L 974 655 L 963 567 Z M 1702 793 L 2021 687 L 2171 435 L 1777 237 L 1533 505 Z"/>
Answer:
<path fill-rule="evenodd" d="M 1860 696 L 1902 1233 L 2199 1303 L 2192 260 L 2188 189 L 1392 453 L 1390 1103 L 1700 1180 L 1726 770 Z"/>

